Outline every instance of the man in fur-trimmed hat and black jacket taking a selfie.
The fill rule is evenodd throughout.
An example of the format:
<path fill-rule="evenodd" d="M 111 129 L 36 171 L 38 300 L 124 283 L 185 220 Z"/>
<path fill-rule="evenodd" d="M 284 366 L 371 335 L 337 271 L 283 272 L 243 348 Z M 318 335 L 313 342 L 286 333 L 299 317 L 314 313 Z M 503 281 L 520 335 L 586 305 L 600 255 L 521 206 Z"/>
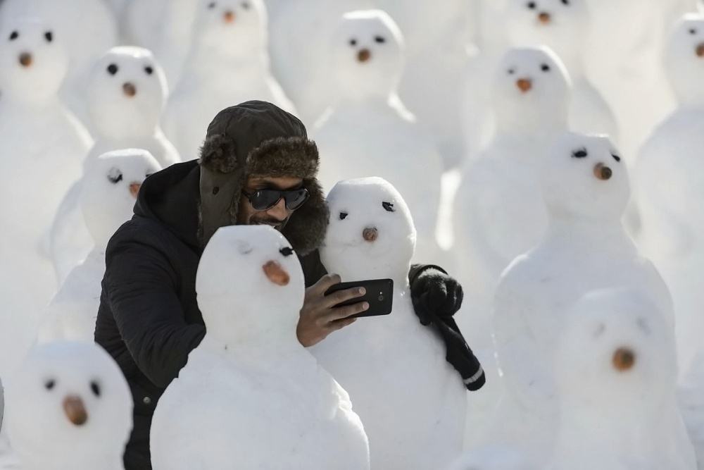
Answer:
<path fill-rule="evenodd" d="M 348 316 L 368 308 L 360 302 L 335 307 L 363 295 L 358 289 L 324 295 L 340 278 L 327 275 L 316 251 L 328 222 L 317 172 L 318 149 L 301 121 L 272 104 L 249 101 L 215 117 L 199 160 L 166 168 L 142 185 L 134 217 L 108 244 L 95 331 L 134 397 L 127 470 L 151 469 L 154 408 L 205 334 L 195 279 L 215 230 L 265 223 L 291 242 L 308 287 L 297 328 L 303 346 L 348 326 L 354 321 Z M 459 309 L 461 287 L 436 266 L 414 266 L 410 279 L 424 318 L 429 311 L 449 317 Z"/>

